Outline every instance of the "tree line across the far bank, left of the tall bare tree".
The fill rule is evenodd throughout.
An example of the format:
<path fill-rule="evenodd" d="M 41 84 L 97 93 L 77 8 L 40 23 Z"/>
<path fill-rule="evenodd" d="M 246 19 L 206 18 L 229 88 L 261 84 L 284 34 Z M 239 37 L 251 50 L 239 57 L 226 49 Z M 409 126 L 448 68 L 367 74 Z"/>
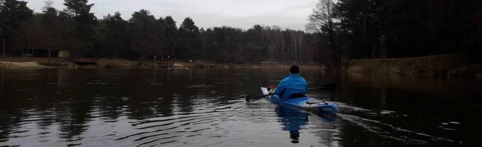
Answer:
<path fill-rule="evenodd" d="M 171 17 L 154 17 L 141 9 L 124 20 L 120 12 L 98 19 L 88 0 L 64 0 L 57 10 L 45 1 L 33 12 L 22 0 L 1 0 L 0 38 L 11 54 L 33 49 L 64 49 L 74 57 L 176 58 L 219 63 L 313 62 L 314 37 L 300 30 L 253 25 L 199 28 L 185 18 L 178 28 Z M 48 53 L 51 55 L 51 53 Z"/>

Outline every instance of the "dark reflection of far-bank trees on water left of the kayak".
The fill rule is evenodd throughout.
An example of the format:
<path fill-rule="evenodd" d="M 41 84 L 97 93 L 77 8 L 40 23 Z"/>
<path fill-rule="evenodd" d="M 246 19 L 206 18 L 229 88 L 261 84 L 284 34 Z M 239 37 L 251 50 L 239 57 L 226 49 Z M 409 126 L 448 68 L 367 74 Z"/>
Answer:
<path fill-rule="evenodd" d="M 246 75 L 236 75 L 240 71 Z M 0 140 L 7 139 L 22 120 L 31 118 L 38 118 L 37 129 L 48 131 L 58 125 L 59 137 L 81 139 L 94 117 L 91 114 L 99 114 L 101 120 L 117 121 L 122 116 L 142 120 L 172 116 L 175 104 L 179 111 L 189 113 L 195 110 L 195 101 L 207 100 L 201 104 L 209 106 L 229 104 L 238 99 L 235 96 L 240 90 L 248 87 L 259 91 L 258 85 L 270 82 L 264 74 L 249 75 L 257 69 L 5 72 L 0 95 Z M 205 86 L 189 88 L 192 85 Z M 16 90 L 30 88 L 34 90 Z M 178 97 L 176 101 L 174 97 Z"/>

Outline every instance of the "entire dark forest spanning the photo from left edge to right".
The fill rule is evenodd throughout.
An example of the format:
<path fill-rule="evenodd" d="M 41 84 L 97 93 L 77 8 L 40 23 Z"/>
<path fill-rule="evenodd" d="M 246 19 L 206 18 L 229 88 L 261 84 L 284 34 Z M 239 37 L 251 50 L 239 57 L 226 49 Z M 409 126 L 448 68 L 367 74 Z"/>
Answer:
<path fill-rule="evenodd" d="M 192 18 L 178 25 L 171 16 L 156 18 L 146 9 L 128 20 L 119 12 L 97 18 L 89 0 L 63 4 L 66 8 L 58 10 L 47 0 L 41 12 L 34 12 L 27 1 L 0 0 L 0 41 L 6 52 L 21 56 L 33 49 L 63 49 L 72 57 L 328 66 L 440 54 L 480 60 L 482 52 L 480 0 L 319 0 L 306 14 L 304 31 L 254 24 L 199 28 Z"/>

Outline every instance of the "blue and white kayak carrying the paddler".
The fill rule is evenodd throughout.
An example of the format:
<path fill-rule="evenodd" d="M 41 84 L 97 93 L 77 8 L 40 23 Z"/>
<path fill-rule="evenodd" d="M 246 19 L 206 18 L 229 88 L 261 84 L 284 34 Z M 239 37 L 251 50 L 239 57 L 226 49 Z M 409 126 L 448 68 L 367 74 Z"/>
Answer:
<path fill-rule="evenodd" d="M 276 90 L 276 88 L 261 87 L 261 91 L 264 95 L 272 94 L 274 93 L 274 90 Z M 309 97 L 281 99 L 277 95 L 272 95 L 267 96 L 266 98 L 277 104 L 320 113 L 336 113 L 337 108 L 336 104 L 334 103 L 321 101 Z"/>

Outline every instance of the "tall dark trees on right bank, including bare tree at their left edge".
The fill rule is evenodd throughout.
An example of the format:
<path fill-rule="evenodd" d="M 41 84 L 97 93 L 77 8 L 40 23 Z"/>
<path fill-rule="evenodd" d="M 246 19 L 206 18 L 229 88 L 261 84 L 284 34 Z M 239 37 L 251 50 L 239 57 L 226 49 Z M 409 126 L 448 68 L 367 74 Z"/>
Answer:
<path fill-rule="evenodd" d="M 462 54 L 480 62 L 481 0 L 319 0 L 306 29 L 323 62 Z"/>

